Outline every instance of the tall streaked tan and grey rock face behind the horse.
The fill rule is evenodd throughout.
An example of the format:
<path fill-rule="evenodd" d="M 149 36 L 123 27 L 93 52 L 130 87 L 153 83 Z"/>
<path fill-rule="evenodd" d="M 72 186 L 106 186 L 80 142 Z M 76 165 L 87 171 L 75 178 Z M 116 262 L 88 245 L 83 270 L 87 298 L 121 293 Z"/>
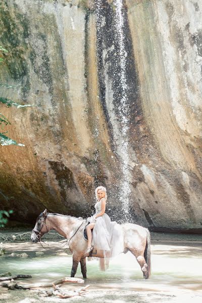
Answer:
<path fill-rule="evenodd" d="M 191 0 L 4 0 L 0 209 L 47 208 L 201 231 L 202 4 Z"/>

